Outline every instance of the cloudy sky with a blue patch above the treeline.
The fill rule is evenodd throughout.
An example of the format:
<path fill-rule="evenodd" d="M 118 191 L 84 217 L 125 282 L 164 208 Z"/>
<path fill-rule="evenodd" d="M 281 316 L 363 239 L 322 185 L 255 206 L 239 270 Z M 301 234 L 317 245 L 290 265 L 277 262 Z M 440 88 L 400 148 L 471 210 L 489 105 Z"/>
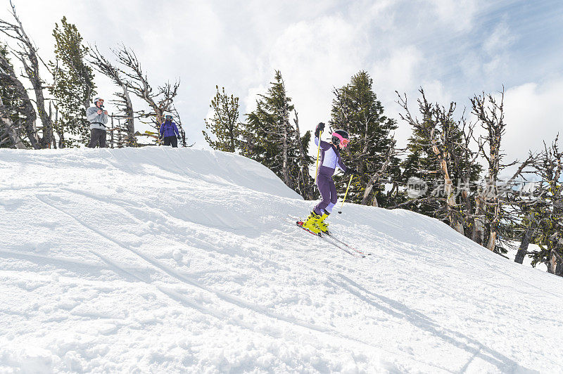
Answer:
<path fill-rule="evenodd" d="M 9 19 L 7 0 L 0 17 Z M 252 110 L 281 70 L 300 124 L 329 120 L 331 89 L 359 70 L 374 79 L 386 114 L 398 118 L 395 91 L 412 103 L 456 101 L 505 86 L 505 152 L 524 157 L 563 129 L 563 1 L 77 1 L 13 0 L 39 53 L 52 58 L 54 23 L 65 15 L 101 51 L 132 47 L 153 86 L 181 79 L 184 128 L 201 130 L 215 85 Z M 96 76 L 106 98 L 115 89 Z M 399 121 L 404 146 L 410 129 Z"/>

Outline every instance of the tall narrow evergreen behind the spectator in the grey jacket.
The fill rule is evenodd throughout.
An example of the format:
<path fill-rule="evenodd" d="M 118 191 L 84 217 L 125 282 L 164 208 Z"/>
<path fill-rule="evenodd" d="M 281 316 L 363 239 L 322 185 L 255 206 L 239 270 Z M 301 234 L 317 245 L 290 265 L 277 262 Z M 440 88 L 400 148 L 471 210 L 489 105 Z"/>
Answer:
<path fill-rule="evenodd" d="M 50 91 L 62 117 L 53 127 L 58 133 L 70 133 L 78 137 L 66 139 L 63 146 L 87 144 L 90 129 L 86 109 L 96 93 L 94 72 L 85 60 L 88 48 L 82 45 L 82 36 L 75 25 L 67 22 L 66 17 L 63 17 L 60 26 L 55 24 L 53 37 L 56 60 L 50 65 L 55 83 Z"/>

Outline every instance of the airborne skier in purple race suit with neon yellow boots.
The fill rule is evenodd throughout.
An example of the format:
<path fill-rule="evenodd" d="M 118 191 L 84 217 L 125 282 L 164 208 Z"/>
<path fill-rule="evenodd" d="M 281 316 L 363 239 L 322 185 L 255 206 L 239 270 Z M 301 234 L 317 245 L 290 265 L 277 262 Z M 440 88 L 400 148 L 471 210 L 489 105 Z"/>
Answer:
<path fill-rule="evenodd" d="M 320 142 L 320 167 L 317 171 L 317 187 L 321 193 L 322 200 L 317 204 L 315 209 L 312 210 L 309 217 L 301 224 L 301 227 L 306 228 L 312 233 L 319 234 L 329 233 L 329 224 L 324 220 L 329 217 L 332 208 L 336 205 L 338 195 L 336 195 L 336 186 L 332 176 L 338 167 L 345 175 L 358 174 L 355 169 L 347 167 L 343 164 L 340 151 L 348 146 L 350 136 L 344 130 L 334 130 L 332 132 L 331 143 L 322 141 L 319 138 L 320 132 L 324 130 L 324 123 L 320 122 L 315 129 L 315 146 Z"/>

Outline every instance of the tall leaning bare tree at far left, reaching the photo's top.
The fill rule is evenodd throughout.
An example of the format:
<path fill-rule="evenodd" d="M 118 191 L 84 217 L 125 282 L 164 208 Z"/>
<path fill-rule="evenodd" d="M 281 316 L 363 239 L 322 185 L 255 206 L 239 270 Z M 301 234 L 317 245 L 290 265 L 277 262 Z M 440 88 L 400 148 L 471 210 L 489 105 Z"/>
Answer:
<path fill-rule="evenodd" d="M 12 49 L 12 52 L 22 63 L 25 77 L 27 77 L 32 84 L 33 91 L 35 93 L 37 113 L 39 114 L 39 119 L 43 124 L 43 137 L 40 137 L 37 134 L 37 129 L 35 129 L 34 135 L 27 134 L 27 136 L 28 138 L 31 136 L 30 142 L 32 143 L 33 148 L 48 148 L 51 146 L 53 138 L 53 124 L 51 122 L 51 118 L 45 110 L 45 96 L 43 90 L 46 87 L 39 73 L 39 63 L 42 63 L 47 70 L 49 70 L 49 67 L 43 62 L 43 60 L 41 60 L 37 53 L 37 47 L 25 33 L 22 22 L 15 13 L 15 6 L 12 4 L 12 1 L 10 1 L 10 5 L 11 14 L 15 20 L 15 24 L 0 20 L 0 32 L 6 34 L 6 36 L 15 40 L 18 44 L 19 48 L 17 50 Z"/>

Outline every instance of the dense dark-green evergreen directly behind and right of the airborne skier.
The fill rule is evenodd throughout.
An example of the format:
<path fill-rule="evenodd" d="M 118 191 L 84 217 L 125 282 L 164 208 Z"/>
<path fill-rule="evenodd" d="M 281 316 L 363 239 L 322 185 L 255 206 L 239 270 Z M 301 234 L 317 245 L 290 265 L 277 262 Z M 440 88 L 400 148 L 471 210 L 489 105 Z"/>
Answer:
<path fill-rule="evenodd" d="M 377 182 L 369 196 L 364 195 L 369 181 L 387 160 L 389 148 L 393 145 L 391 131 L 397 128 L 396 121 L 384 115 L 381 101 L 372 89 L 373 80 L 365 71 L 354 75 L 349 84 L 334 90 L 335 98 L 331 110 L 332 129 L 343 129 L 350 134 L 350 144 L 341 153 L 349 167 L 360 173 L 353 179 L 347 200 L 365 204 L 392 205 L 391 196 L 382 193 L 384 183 Z M 400 160 L 391 155 L 386 175 L 398 179 Z M 348 178 L 335 176 L 337 191 L 346 190 Z M 379 200 L 379 201 L 378 201 Z"/>

